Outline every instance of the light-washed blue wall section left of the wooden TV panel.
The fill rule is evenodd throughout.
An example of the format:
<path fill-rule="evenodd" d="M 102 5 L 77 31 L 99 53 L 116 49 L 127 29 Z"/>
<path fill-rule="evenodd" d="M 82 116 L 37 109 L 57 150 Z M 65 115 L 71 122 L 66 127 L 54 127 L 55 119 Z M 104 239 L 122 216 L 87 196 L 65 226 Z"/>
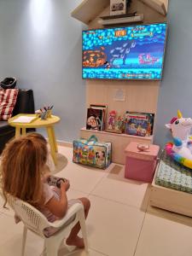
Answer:
<path fill-rule="evenodd" d="M 82 23 L 70 16 L 81 0 L 0 0 L 0 79 L 15 76 L 34 91 L 36 108 L 53 104 L 56 137 L 72 141 L 84 125 Z"/>

